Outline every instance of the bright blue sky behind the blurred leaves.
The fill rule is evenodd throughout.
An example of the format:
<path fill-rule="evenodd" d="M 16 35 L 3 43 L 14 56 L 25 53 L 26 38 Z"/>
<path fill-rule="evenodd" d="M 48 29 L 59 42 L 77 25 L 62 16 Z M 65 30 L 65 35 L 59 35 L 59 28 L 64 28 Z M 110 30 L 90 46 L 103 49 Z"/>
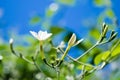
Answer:
<path fill-rule="evenodd" d="M 3 38 L 6 33 L 17 32 L 18 34 L 28 34 L 29 30 L 41 29 L 39 25 L 30 25 L 30 19 L 40 16 L 42 22 L 49 21 L 51 25 L 59 25 L 69 28 L 77 34 L 85 34 L 90 26 L 97 23 L 98 15 L 104 11 L 105 7 L 97 7 L 91 0 L 76 0 L 74 5 L 59 4 L 59 10 L 52 16 L 46 18 L 45 12 L 54 0 L 0 0 L 0 34 Z M 119 0 L 112 0 L 112 9 L 115 16 L 119 16 Z"/>

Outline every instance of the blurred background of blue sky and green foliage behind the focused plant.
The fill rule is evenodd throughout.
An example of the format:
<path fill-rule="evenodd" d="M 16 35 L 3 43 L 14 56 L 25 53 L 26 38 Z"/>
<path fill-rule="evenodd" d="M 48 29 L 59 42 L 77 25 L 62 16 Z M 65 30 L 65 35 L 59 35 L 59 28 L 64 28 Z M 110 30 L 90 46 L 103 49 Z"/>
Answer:
<path fill-rule="evenodd" d="M 37 45 L 30 30 L 52 32 L 55 46 L 74 32 L 78 39 L 85 39 L 89 48 L 98 39 L 96 34 L 103 22 L 110 30 L 118 31 L 119 38 L 119 5 L 119 0 L 0 0 L 0 80 L 39 80 L 41 75 L 10 52 L 10 38 L 25 56 L 32 56 Z M 79 48 L 73 48 L 69 55 L 75 58 L 87 49 Z M 119 80 L 119 66 L 117 60 L 96 72 L 96 80 Z"/>

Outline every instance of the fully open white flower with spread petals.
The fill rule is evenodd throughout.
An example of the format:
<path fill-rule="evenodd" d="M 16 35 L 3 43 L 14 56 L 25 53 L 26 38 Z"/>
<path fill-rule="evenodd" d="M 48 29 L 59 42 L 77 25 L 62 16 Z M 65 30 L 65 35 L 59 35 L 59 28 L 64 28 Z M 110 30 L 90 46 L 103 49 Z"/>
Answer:
<path fill-rule="evenodd" d="M 30 33 L 39 41 L 44 41 L 48 39 L 50 36 L 52 36 L 52 33 L 47 33 L 47 31 L 41 31 L 41 30 L 38 33 L 34 31 L 30 31 Z"/>

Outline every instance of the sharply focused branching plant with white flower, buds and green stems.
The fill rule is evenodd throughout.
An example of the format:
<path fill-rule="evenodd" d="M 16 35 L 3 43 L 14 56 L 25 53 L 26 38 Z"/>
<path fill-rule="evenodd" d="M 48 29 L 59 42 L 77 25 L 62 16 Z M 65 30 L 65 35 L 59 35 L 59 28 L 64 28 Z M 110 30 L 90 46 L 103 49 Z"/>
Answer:
<path fill-rule="evenodd" d="M 109 49 L 102 55 L 98 54 L 98 56 L 100 56 L 99 62 L 97 62 L 98 58 L 96 56 L 95 61 L 98 64 L 92 65 L 90 63 L 81 61 L 81 58 L 83 58 L 86 55 L 89 55 L 90 52 L 97 46 L 100 46 L 100 45 L 103 45 L 106 43 L 110 43 L 116 38 L 117 32 L 111 31 L 109 38 L 106 38 L 107 32 L 108 32 L 108 25 L 103 23 L 101 35 L 100 35 L 99 39 L 97 40 L 97 42 L 91 48 L 89 48 L 87 51 L 85 51 L 82 55 L 78 56 L 77 58 L 73 58 L 72 56 L 68 55 L 68 53 L 72 47 L 77 46 L 78 44 L 81 44 L 81 42 L 84 41 L 84 39 L 80 39 L 77 41 L 76 35 L 75 35 L 75 33 L 73 33 L 67 43 L 65 50 L 63 49 L 63 48 L 65 48 L 65 44 L 63 41 L 57 47 L 52 45 L 52 48 L 54 48 L 53 50 L 56 51 L 56 55 L 61 55 L 61 56 L 52 58 L 52 62 L 50 62 L 48 57 L 46 57 L 45 51 L 43 49 L 44 43 L 46 42 L 47 39 L 49 39 L 52 36 L 52 33 L 48 33 L 47 31 L 41 31 L 41 30 L 38 33 L 34 32 L 34 31 L 30 31 L 30 33 L 37 40 L 39 40 L 39 43 L 40 43 L 39 44 L 40 49 L 38 51 L 36 51 L 34 56 L 31 57 L 31 60 L 27 59 L 21 53 L 16 53 L 16 51 L 13 48 L 13 39 L 10 39 L 9 43 L 10 43 L 11 52 L 14 55 L 25 60 L 26 62 L 28 62 L 30 64 L 35 65 L 36 68 L 40 72 L 42 72 L 42 69 L 39 67 L 39 64 L 36 62 L 37 57 L 39 56 L 38 54 L 40 54 L 40 58 L 44 62 L 44 64 L 46 64 L 47 66 L 49 66 L 49 68 L 54 69 L 56 71 L 57 76 L 53 80 L 55 80 L 55 79 L 61 80 L 62 79 L 62 77 L 60 76 L 62 74 L 61 68 L 69 63 L 72 64 L 72 62 L 75 64 L 78 64 L 79 68 L 81 70 L 80 74 L 75 74 L 77 76 L 74 76 L 74 80 L 83 80 L 86 76 L 92 74 L 93 72 L 103 69 L 108 63 L 110 63 L 112 60 L 114 60 L 116 57 L 118 57 L 120 51 L 118 51 L 116 49 L 119 48 L 120 40 L 116 39 L 116 42 L 114 43 L 114 45 L 112 46 L 111 49 Z M 58 53 L 61 53 L 61 54 L 58 54 Z M 50 55 L 48 55 L 48 56 L 50 56 Z M 71 60 L 71 62 L 67 62 L 65 60 L 65 57 L 69 58 Z M 68 76 L 67 76 L 67 79 L 68 79 Z"/>

